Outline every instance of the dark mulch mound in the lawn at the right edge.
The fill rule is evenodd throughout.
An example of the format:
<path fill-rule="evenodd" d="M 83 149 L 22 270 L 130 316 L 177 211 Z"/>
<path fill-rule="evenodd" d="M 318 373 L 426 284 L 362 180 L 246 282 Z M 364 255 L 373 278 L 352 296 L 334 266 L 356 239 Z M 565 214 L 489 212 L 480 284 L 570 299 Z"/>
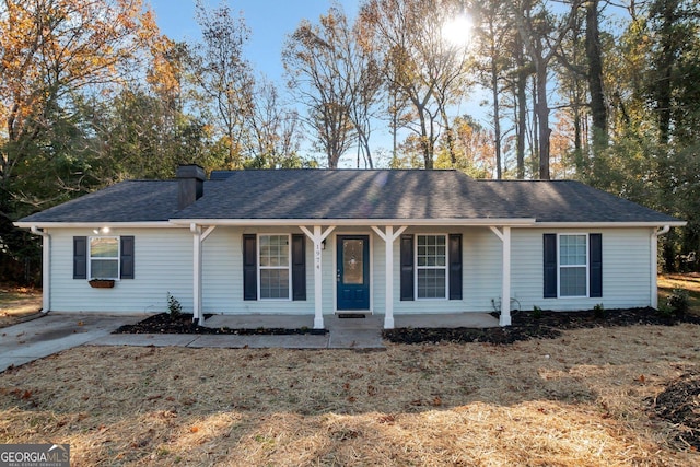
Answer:
<path fill-rule="evenodd" d="M 652 400 L 652 411 L 672 422 L 680 447 L 700 450 L 700 372 L 689 372 Z"/>

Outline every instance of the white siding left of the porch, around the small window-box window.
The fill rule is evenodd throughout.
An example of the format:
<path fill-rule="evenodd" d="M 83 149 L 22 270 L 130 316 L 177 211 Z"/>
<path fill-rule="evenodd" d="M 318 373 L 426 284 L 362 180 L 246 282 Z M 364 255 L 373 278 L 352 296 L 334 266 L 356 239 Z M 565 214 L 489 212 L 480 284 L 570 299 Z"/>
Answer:
<path fill-rule="evenodd" d="M 167 311 L 170 292 L 192 311 L 192 235 L 188 229 L 113 229 L 108 235 L 135 236 L 135 279 L 113 289 L 93 289 L 73 279 L 73 236 L 92 229 L 51 229 L 50 310 L 56 312 L 154 313 Z"/>

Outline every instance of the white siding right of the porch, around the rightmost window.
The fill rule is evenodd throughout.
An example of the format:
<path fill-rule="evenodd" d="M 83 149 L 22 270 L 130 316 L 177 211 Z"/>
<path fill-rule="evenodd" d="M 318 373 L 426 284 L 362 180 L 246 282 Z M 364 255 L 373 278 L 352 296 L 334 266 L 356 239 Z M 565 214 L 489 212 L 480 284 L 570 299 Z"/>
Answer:
<path fill-rule="evenodd" d="M 522 310 L 578 311 L 596 304 L 605 308 L 651 305 L 650 229 L 513 229 L 511 294 Z M 603 234 L 603 296 L 544 299 L 545 233 Z"/>

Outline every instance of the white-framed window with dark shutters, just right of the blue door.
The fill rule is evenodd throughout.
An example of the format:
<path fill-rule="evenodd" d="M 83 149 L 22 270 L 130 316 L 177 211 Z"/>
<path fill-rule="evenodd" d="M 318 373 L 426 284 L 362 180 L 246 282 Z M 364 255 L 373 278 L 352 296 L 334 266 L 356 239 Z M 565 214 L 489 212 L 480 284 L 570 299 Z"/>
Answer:
<path fill-rule="evenodd" d="M 416 235 L 416 296 L 447 297 L 447 236 Z"/>

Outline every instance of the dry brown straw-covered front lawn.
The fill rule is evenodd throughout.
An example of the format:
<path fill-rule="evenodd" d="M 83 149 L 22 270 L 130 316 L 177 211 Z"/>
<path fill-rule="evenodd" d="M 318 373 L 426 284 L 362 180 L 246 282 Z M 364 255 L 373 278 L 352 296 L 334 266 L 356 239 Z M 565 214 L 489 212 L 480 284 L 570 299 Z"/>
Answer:
<path fill-rule="evenodd" d="M 700 327 L 386 351 L 82 347 L 0 374 L 0 443 L 73 465 L 691 466 L 652 416 Z"/>

